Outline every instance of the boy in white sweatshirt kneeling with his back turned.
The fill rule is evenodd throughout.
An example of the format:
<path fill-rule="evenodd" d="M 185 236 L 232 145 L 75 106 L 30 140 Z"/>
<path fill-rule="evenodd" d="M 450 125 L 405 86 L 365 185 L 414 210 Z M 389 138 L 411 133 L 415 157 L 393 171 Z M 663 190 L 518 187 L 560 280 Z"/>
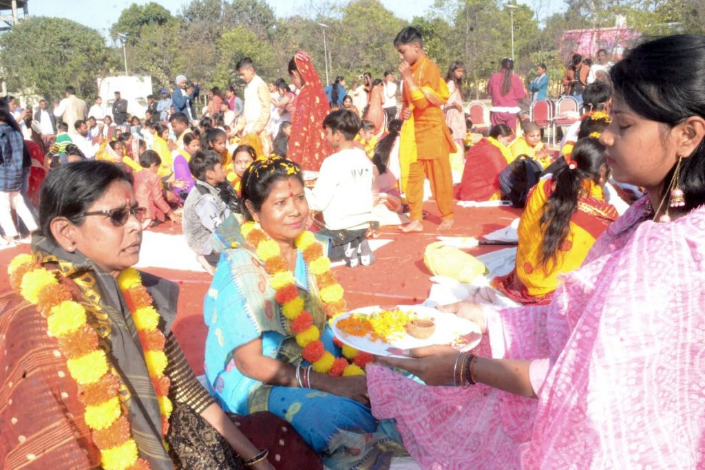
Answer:
<path fill-rule="evenodd" d="M 323 121 L 326 140 L 336 149 L 321 164 L 313 190 L 306 199 L 313 211 L 321 211 L 331 237 L 332 261 L 345 259 L 350 266 L 372 264 L 374 258 L 364 234 L 372 221 L 372 161 L 353 139 L 360 131 L 360 118 L 346 109 L 333 111 Z"/>

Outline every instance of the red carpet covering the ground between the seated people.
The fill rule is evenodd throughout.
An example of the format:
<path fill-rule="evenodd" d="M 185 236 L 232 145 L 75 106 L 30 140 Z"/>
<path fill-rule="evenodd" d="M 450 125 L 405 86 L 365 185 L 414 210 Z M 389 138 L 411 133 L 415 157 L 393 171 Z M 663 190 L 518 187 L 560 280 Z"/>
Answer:
<path fill-rule="evenodd" d="M 436 226 L 440 218 L 436 216 L 436 206 L 427 203 L 429 217 L 424 221 L 424 233 L 401 234 L 396 227 L 381 229 L 380 238 L 392 238 L 374 253 L 376 261 L 372 266 L 356 268 L 336 268 L 336 275 L 345 288 L 348 307 L 367 305 L 417 304 L 428 297 L 431 281 L 430 273 L 424 266 L 423 256 L 426 246 L 436 241 L 438 235 L 479 236 L 503 228 L 520 216 L 520 209 L 506 207 L 462 208 L 456 206 L 455 225 L 448 232 L 439 233 Z M 180 228 L 170 224 L 157 228 L 163 233 L 178 233 Z M 0 286 L 8 289 L 7 264 L 16 254 L 29 252 L 29 245 L 0 251 Z M 495 249 L 477 247 L 470 254 L 479 255 Z M 145 271 L 177 282 L 181 289 L 178 303 L 178 317 L 173 330 L 197 374 L 203 373 L 203 345 L 207 329 L 202 319 L 203 297 L 210 285 L 211 276 L 207 273 L 190 271 L 151 269 Z"/>

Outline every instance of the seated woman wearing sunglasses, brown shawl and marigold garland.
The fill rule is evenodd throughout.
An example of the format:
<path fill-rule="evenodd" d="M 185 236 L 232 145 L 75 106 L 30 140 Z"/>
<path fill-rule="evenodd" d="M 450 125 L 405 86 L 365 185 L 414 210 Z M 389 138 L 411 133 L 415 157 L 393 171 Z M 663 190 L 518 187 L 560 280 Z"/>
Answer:
<path fill-rule="evenodd" d="M 144 218 L 112 163 L 44 182 L 32 256 L 8 269 L 24 300 L 0 297 L 0 467 L 320 466 L 286 421 L 228 416 L 197 381 L 171 331 L 178 287 L 131 267 Z"/>

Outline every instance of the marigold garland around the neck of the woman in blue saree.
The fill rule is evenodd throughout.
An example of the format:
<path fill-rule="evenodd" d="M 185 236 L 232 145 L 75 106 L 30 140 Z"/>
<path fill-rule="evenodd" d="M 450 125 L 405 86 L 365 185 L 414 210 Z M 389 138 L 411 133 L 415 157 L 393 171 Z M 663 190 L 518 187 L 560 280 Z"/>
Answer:
<path fill-rule="evenodd" d="M 279 245 L 254 222 L 244 223 L 240 233 L 255 249 L 257 257 L 264 262 L 264 270 L 269 274 L 269 282 L 275 291 L 274 299 L 281 306 L 281 314 L 288 320 L 289 329 L 294 333 L 296 343 L 302 347 L 302 357 L 312 365 L 314 371 L 328 373 L 331 376 L 363 374 L 364 371 L 360 366 L 367 365 L 369 362 L 367 356 L 361 357 L 352 364 L 357 351 L 348 351 L 348 359 L 351 362 L 343 357 L 336 358 L 326 351 L 321 341 L 321 331 L 313 324 L 312 315 L 305 310 L 305 302 L 298 293 L 293 273 L 281 256 Z M 331 273 L 331 260 L 324 256 L 321 245 L 309 231 L 296 237 L 294 246 L 301 252 L 309 271 L 316 278 L 326 316 L 329 319 L 336 318 L 345 311 L 345 300 L 343 287 Z"/>

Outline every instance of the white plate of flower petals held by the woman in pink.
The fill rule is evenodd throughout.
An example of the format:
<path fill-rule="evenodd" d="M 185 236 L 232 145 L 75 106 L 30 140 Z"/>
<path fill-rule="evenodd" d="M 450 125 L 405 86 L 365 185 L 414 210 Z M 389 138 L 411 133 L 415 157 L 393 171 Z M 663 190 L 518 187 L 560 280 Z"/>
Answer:
<path fill-rule="evenodd" d="M 384 307 L 385 310 L 400 309 L 401 311 L 413 311 L 417 314 L 418 319 L 434 319 L 436 321 L 436 330 L 434 334 L 424 340 L 414 338 L 405 333 L 402 338 L 391 340 L 390 342 L 372 341 L 369 336 L 353 336 L 343 333 L 338 329 L 338 321 L 346 319 L 353 314 L 372 315 L 382 308 L 375 305 L 374 307 L 364 307 L 355 309 L 339 316 L 331 324 L 331 329 L 336 338 L 341 340 L 348 346 L 354 347 L 357 350 L 369 352 L 375 356 L 386 357 L 405 357 L 399 355 L 395 348 L 400 350 L 408 350 L 413 347 L 431 346 L 431 345 L 452 345 L 458 351 L 469 351 L 479 345 L 482 340 L 482 333 L 479 327 L 470 320 L 461 319 L 453 314 L 446 314 L 430 307 L 422 305 L 398 305 L 393 308 Z M 390 350 L 391 348 L 391 350 Z"/>

